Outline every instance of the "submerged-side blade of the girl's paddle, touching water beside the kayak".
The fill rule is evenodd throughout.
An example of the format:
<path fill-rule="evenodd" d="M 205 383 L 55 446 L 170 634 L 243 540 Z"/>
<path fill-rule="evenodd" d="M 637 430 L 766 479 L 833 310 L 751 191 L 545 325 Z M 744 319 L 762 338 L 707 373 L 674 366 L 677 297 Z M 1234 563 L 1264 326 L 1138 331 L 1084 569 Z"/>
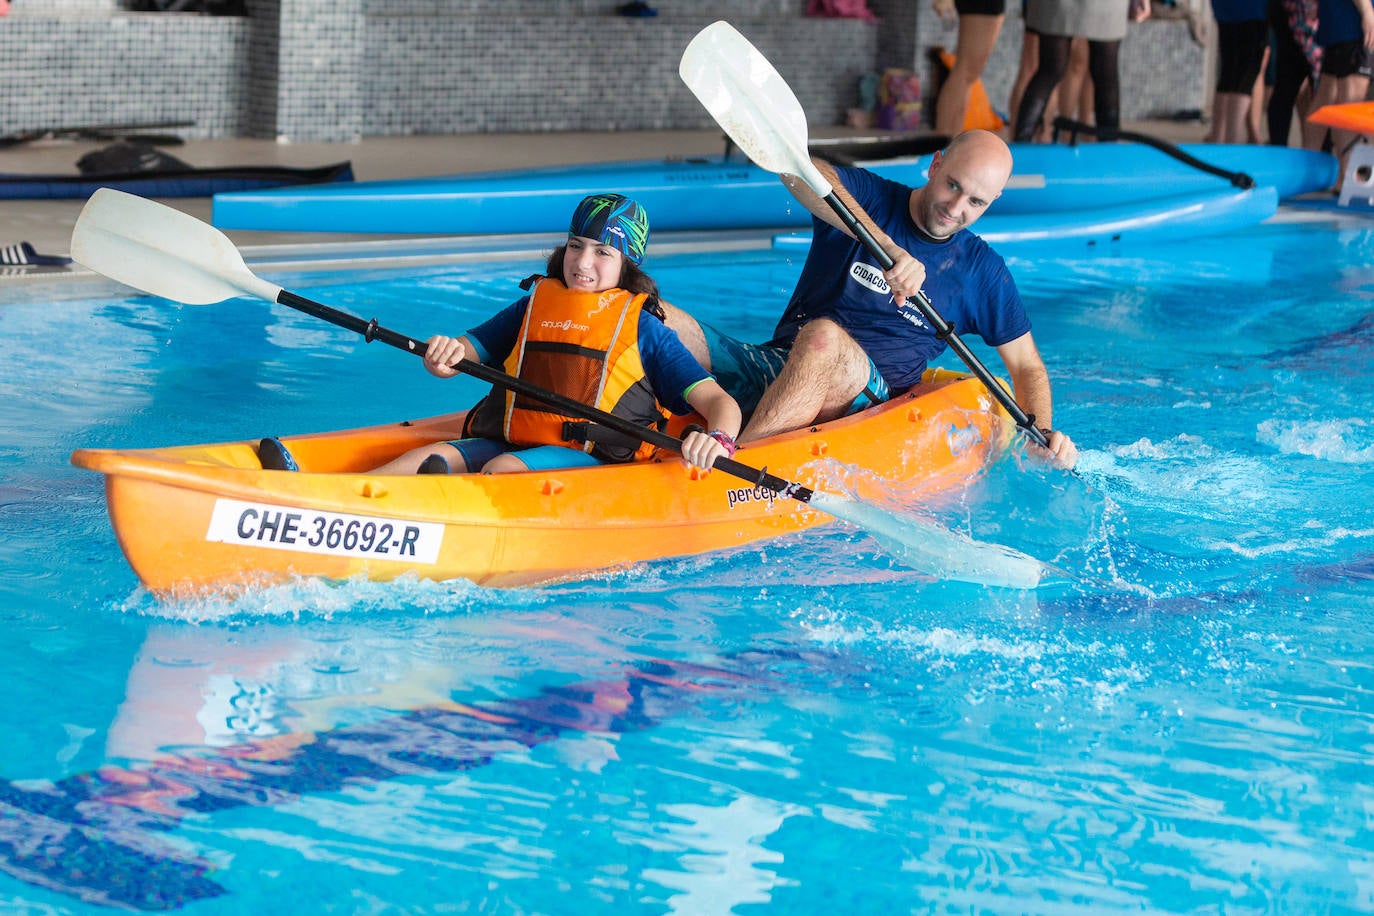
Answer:
<path fill-rule="evenodd" d="M 1033 556 L 1010 547 L 984 544 L 910 515 L 897 515 L 829 493 L 813 493 L 811 504 L 861 527 L 901 563 L 936 578 L 1002 588 L 1036 588 L 1046 577 L 1044 564 Z"/>

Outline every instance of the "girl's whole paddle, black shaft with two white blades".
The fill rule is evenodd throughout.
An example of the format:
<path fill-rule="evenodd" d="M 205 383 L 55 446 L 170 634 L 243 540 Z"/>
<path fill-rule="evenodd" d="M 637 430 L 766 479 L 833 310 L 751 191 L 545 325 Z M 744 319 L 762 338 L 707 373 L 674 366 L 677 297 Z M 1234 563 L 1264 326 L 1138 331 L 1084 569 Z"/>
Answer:
<path fill-rule="evenodd" d="M 144 198 L 100 188 L 87 202 L 71 232 L 71 257 L 96 273 L 188 305 L 207 305 L 253 295 L 290 306 L 338 327 L 425 356 L 425 342 L 381 327 L 376 320 L 313 302 L 256 276 L 228 236 L 214 227 Z M 666 433 L 588 407 L 530 385 L 481 363 L 463 360 L 460 372 L 548 404 L 567 416 L 580 416 L 657 448 L 679 452 L 682 442 Z M 914 569 L 982 585 L 1035 588 L 1044 567 L 1035 558 L 995 544 L 981 544 L 932 523 L 899 516 L 877 507 L 813 490 L 719 457 L 716 470 L 798 500 L 822 512 L 870 530 L 879 542 L 901 544 L 901 558 Z"/>

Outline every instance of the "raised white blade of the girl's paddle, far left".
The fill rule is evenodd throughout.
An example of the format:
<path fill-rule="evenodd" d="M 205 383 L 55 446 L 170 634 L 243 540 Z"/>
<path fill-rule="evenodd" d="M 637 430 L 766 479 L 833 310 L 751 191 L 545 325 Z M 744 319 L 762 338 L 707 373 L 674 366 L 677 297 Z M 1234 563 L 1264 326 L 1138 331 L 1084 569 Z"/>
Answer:
<path fill-rule="evenodd" d="M 71 229 L 71 260 L 173 302 L 206 305 L 240 295 L 275 302 L 282 287 L 253 275 L 228 236 L 162 203 L 100 188 Z"/>

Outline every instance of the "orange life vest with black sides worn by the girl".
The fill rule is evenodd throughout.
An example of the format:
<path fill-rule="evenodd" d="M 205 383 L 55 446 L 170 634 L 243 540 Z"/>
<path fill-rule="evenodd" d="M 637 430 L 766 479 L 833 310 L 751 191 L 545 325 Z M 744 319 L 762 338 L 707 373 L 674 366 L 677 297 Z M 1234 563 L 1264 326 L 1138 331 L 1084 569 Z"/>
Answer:
<path fill-rule="evenodd" d="M 639 356 L 639 321 L 647 295 L 627 290 L 587 293 L 540 277 L 529 294 L 519 336 L 506 357 L 506 374 L 640 426 L 664 428 Z M 511 445 L 562 445 L 607 461 L 649 457 L 649 444 L 576 442 L 565 423 L 585 423 L 523 394 L 495 387 L 469 415 L 464 435 Z M 618 434 L 614 434 L 618 435 Z M 625 437 L 620 437 L 625 438 Z"/>

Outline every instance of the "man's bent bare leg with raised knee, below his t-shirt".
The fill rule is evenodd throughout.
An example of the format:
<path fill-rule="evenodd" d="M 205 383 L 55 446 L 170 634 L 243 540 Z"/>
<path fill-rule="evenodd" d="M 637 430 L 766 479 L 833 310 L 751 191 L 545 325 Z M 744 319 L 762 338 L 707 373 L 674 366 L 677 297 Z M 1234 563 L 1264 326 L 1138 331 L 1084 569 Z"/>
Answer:
<path fill-rule="evenodd" d="M 741 442 L 844 416 L 868 383 L 868 356 L 834 321 L 818 319 L 797 334 L 787 364 L 758 398 Z"/>

